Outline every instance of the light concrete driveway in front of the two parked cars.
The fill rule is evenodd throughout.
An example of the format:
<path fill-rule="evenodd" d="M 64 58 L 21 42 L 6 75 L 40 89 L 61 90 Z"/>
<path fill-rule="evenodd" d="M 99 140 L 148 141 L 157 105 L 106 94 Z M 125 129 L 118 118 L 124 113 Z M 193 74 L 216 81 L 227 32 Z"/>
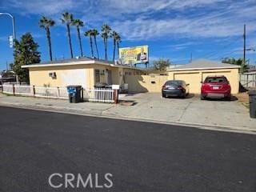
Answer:
<path fill-rule="evenodd" d="M 233 101 L 205 100 L 190 94 L 186 99 L 162 98 L 160 94 L 134 94 L 122 98 L 133 101 L 134 106 L 117 106 L 107 114 L 154 119 L 163 122 L 183 122 L 207 126 L 256 129 L 256 119 L 249 117 L 249 110 L 235 98 Z"/>

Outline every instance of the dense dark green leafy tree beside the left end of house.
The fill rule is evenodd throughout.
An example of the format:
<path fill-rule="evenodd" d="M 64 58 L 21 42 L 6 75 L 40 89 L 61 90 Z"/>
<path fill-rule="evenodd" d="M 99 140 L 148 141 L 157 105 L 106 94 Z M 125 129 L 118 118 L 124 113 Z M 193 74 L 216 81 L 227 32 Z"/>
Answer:
<path fill-rule="evenodd" d="M 20 42 L 14 40 L 14 64 L 10 65 L 10 67 L 18 74 L 20 82 L 30 82 L 28 70 L 22 69 L 21 66 L 41 61 L 38 47 L 38 43 L 34 42 L 30 33 L 23 34 Z"/>

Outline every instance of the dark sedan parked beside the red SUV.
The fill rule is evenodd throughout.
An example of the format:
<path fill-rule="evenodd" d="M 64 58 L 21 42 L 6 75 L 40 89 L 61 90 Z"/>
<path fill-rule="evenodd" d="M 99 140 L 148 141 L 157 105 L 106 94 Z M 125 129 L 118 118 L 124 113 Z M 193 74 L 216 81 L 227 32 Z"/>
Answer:
<path fill-rule="evenodd" d="M 182 80 L 167 81 L 162 86 L 162 97 L 178 96 L 179 98 L 186 98 L 189 94 L 189 85 Z"/>

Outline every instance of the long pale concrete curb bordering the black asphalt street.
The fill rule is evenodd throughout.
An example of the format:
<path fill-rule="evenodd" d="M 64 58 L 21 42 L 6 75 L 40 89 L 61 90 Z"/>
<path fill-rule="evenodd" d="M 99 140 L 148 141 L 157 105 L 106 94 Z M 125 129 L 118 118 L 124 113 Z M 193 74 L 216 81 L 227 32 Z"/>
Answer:
<path fill-rule="evenodd" d="M 89 116 L 89 117 L 98 117 L 98 118 L 110 118 L 110 119 L 119 119 L 119 120 L 126 120 L 126 121 L 135 121 L 135 122 L 151 122 L 151 123 L 158 123 L 158 124 L 165 124 L 165 125 L 172 125 L 172 126 L 187 126 L 191 128 L 197 128 L 201 130 L 216 130 L 216 131 L 223 131 L 223 132 L 232 132 L 232 133 L 240 133 L 240 134 L 256 134 L 256 129 L 247 128 L 247 127 L 235 127 L 235 126 L 220 126 L 220 125 L 209 125 L 209 124 L 200 124 L 194 122 L 164 122 L 160 120 L 152 120 L 146 118 L 133 118 L 129 116 L 117 116 L 111 114 L 102 114 L 102 111 L 95 110 L 75 110 L 73 108 L 67 107 L 59 107 L 59 106 L 34 106 L 34 105 L 21 105 L 13 102 L 0 102 L 0 106 L 12 107 L 12 108 L 19 108 L 19 109 L 27 109 L 27 110 L 40 110 L 46 112 L 54 112 L 60 114 L 74 114 L 74 115 L 81 115 L 81 116 Z M 96 113 L 97 112 L 97 113 Z"/>

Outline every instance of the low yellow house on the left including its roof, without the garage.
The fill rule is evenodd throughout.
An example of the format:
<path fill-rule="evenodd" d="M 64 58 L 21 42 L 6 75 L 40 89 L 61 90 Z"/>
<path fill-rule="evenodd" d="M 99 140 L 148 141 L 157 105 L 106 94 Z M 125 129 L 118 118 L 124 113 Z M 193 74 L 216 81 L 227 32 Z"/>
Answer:
<path fill-rule="evenodd" d="M 30 85 L 69 86 L 81 85 L 92 88 L 98 83 L 124 86 L 125 75 L 145 74 L 145 70 L 118 65 L 95 58 L 38 63 L 22 66 L 30 71 Z"/>

